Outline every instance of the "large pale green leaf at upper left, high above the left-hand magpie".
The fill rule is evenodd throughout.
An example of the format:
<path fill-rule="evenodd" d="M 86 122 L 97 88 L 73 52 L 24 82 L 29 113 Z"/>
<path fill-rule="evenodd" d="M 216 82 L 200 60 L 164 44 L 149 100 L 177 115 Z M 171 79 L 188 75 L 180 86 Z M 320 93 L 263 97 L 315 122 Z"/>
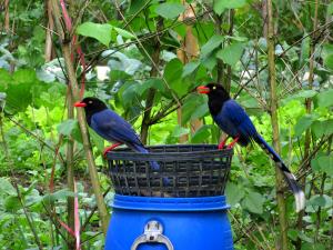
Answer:
<path fill-rule="evenodd" d="M 111 24 L 100 24 L 94 22 L 84 22 L 80 24 L 77 29 L 78 34 L 94 38 L 95 40 L 100 41 L 107 47 L 109 47 L 109 43 L 111 42 Z"/>

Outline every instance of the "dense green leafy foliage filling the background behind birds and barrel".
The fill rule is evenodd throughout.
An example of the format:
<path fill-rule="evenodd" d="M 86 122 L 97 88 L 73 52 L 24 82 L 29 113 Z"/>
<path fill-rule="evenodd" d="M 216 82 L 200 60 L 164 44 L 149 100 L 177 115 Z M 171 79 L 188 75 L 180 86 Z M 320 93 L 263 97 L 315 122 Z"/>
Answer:
<path fill-rule="evenodd" d="M 206 99 L 192 91 L 212 79 L 230 88 L 272 142 L 266 1 L 68 3 L 89 66 L 85 96 L 105 100 L 147 144 L 218 143 L 221 134 Z M 307 199 L 297 216 L 293 197 L 284 193 L 289 249 L 332 249 L 333 4 L 273 3 L 281 154 Z M 67 146 L 73 138 L 81 243 L 100 249 L 104 237 L 78 121 L 67 117 L 67 76 L 57 32 L 50 32 L 49 1 L 4 0 L 0 6 L 0 246 L 70 248 L 54 218 L 67 220 L 67 199 L 73 197 L 65 181 Z M 194 53 L 186 47 L 191 39 Z M 97 66 L 109 67 L 105 79 Z M 78 78 L 81 71 L 78 66 Z M 109 202 L 113 192 L 101 158 L 105 142 L 89 132 Z M 273 164 L 255 146 L 235 152 L 226 187 L 235 249 L 283 248 Z M 49 189 L 52 167 L 54 192 Z"/>

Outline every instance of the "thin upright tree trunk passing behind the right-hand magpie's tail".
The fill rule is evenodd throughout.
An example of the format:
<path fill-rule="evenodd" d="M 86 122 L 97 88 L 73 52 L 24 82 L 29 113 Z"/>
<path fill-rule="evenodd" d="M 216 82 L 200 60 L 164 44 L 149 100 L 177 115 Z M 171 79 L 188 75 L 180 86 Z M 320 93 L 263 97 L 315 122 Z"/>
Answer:
<path fill-rule="evenodd" d="M 279 119 L 278 119 L 278 94 L 276 94 L 276 72 L 275 72 L 275 36 L 274 36 L 274 20 L 273 20 L 273 4 L 272 0 L 266 1 L 268 7 L 268 53 L 269 53 L 269 81 L 271 87 L 271 106 L 270 114 L 272 121 L 273 130 L 273 146 L 275 151 L 280 154 L 280 132 L 279 132 Z M 279 210 L 279 220 L 281 228 L 281 249 L 287 250 L 287 220 L 285 212 L 285 200 L 283 196 L 283 177 L 280 172 L 278 166 L 275 166 L 276 172 L 276 199 L 278 199 L 278 210 Z"/>

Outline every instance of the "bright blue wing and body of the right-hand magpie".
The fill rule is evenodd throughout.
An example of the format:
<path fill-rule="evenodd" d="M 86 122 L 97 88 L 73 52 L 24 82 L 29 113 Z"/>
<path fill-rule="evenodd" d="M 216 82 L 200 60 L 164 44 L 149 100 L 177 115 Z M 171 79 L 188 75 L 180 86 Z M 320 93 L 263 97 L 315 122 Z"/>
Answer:
<path fill-rule="evenodd" d="M 223 103 L 223 107 L 214 118 L 220 128 L 231 137 L 241 136 L 244 144 L 251 141 L 256 130 L 245 110 L 233 99 Z"/>

